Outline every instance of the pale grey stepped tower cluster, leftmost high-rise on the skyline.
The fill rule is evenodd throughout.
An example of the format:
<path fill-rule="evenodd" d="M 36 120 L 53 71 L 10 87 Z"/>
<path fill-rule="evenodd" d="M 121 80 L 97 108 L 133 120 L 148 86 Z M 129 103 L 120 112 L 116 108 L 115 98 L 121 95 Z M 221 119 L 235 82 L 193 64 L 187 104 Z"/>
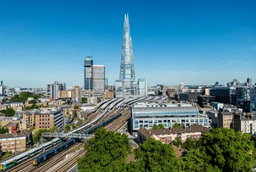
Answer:
<path fill-rule="evenodd" d="M 52 100 L 57 100 L 61 97 L 61 91 L 63 90 L 66 90 L 66 83 L 58 83 L 58 81 L 55 81 L 47 85 L 47 97 Z"/>

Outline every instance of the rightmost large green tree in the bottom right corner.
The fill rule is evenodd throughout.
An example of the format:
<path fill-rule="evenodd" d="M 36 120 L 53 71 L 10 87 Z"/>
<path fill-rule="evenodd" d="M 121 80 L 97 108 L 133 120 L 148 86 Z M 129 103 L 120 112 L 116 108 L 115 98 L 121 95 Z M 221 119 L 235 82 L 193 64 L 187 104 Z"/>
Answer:
<path fill-rule="evenodd" d="M 249 134 L 229 128 L 214 128 L 200 139 L 200 150 L 209 156 L 207 162 L 221 171 L 252 171 L 255 165 L 254 142 Z"/>

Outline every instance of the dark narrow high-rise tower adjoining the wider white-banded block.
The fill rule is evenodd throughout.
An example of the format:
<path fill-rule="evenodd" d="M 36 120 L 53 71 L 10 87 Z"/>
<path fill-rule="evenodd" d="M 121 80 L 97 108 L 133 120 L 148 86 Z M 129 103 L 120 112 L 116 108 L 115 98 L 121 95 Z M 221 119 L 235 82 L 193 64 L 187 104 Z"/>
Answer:
<path fill-rule="evenodd" d="M 84 89 L 93 91 L 93 57 L 84 60 Z"/>

